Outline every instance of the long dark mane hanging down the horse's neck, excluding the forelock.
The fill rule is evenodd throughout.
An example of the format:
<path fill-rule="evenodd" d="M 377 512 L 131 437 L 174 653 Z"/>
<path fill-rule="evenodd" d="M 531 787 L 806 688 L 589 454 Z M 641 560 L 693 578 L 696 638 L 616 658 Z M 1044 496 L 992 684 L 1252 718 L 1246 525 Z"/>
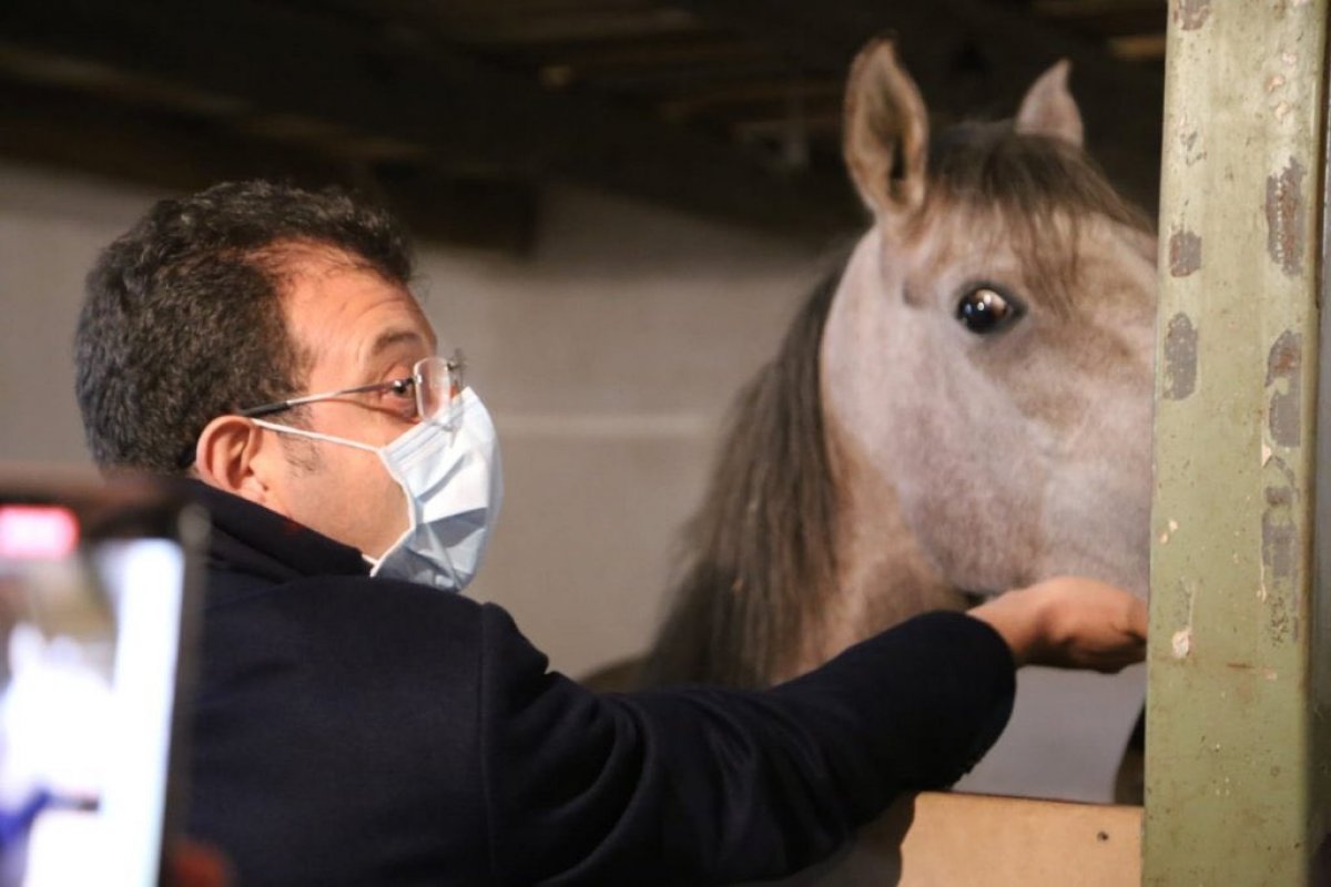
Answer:
<path fill-rule="evenodd" d="M 684 533 L 689 567 L 643 664 L 644 684 L 761 685 L 836 573 L 819 346 L 843 265 L 736 400 L 707 499 Z"/>

